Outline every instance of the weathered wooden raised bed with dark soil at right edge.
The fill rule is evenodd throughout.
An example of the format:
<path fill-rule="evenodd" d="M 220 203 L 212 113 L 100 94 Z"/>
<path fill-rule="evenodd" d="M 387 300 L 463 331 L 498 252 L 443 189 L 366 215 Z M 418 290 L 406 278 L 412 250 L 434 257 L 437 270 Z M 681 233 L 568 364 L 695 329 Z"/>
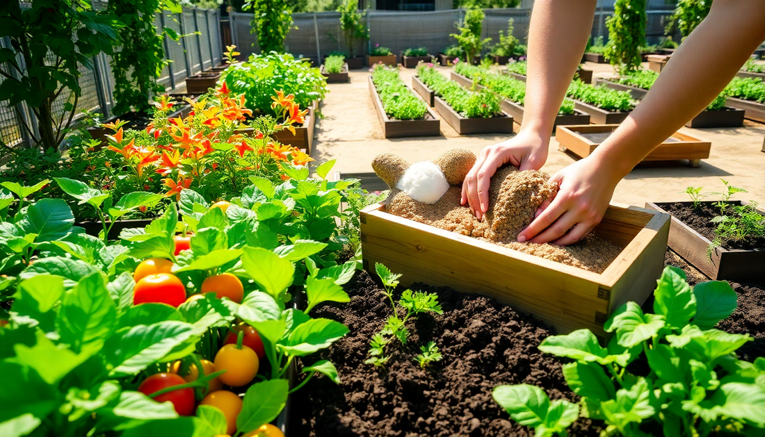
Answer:
<path fill-rule="evenodd" d="M 647 202 L 646 208 L 672 214 L 669 228 L 669 248 L 685 258 L 690 264 L 713 280 L 734 280 L 737 282 L 765 280 L 765 245 L 760 248 L 723 248 L 712 246 L 715 238 L 715 224 L 712 209 L 715 202 L 701 202 L 698 209 L 692 202 Z M 729 202 L 742 205 L 745 202 Z M 761 209 L 757 212 L 765 215 Z M 730 247 L 730 246 L 729 246 Z"/>

